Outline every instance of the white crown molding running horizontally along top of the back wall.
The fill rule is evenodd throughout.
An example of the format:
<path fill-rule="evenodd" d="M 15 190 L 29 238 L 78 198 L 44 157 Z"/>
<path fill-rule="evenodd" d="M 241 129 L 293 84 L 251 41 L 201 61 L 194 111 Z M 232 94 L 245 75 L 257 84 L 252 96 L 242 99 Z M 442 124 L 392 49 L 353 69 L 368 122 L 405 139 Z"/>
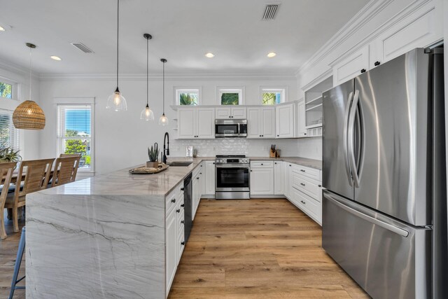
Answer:
<path fill-rule="evenodd" d="M 116 74 L 40 74 L 41 81 L 66 80 L 116 80 Z M 149 76 L 150 81 L 161 81 L 162 74 Z M 185 73 L 165 74 L 166 81 L 210 81 L 210 80 L 296 80 L 294 74 L 260 74 L 260 73 Z M 146 81 L 146 74 L 120 74 L 120 81 Z"/>

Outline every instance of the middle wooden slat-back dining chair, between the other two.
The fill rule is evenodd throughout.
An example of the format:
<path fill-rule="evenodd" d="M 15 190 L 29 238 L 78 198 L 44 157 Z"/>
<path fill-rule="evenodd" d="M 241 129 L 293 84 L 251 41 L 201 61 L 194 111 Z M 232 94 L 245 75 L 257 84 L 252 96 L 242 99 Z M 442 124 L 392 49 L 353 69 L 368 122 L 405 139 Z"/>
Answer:
<path fill-rule="evenodd" d="M 13 230 L 19 231 L 18 209 L 25 206 L 26 195 L 44 190 L 48 186 L 51 167 L 55 159 L 22 161 L 14 193 L 6 197 L 5 207 L 13 209 Z M 23 185 L 22 185 L 23 183 Z"/>

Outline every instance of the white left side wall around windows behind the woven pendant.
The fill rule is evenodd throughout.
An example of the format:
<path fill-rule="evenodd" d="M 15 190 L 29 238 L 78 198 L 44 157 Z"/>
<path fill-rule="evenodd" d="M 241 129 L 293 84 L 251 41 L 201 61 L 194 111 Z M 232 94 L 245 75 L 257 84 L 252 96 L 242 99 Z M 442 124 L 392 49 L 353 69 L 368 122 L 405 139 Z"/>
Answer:
<path fill-rule="evenodd" d="M 0 64 L 0 81 L 13 81 L 18 84 L 18 97 L 14 99 L 1 99 L 0 109 L 14 111 L 21 102 L 29 99 L 29 74 L 27 70 L 17 69 L 8 64 Z M 37 104 L 41 104 L 39 100 L 39 81 L 33 77 L 31 82 L 32 100 Z M 44 111 L 45 112 L 45 111 Z M 20 130 L 20 155 L 24 160 L 33 160 L 41 157 L 39 152 L 39 136 L 40 131 L 36 130 Z"/>

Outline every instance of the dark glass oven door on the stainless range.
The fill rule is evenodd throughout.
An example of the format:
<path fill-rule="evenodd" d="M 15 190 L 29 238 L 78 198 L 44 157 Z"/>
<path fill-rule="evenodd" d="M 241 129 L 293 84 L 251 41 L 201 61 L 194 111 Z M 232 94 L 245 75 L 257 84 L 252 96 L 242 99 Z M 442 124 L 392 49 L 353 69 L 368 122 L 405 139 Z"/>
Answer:
<path fill-rule="evenodd" d="M 216 165 L 215 190 L 249 191 L 249 165 Z"/>

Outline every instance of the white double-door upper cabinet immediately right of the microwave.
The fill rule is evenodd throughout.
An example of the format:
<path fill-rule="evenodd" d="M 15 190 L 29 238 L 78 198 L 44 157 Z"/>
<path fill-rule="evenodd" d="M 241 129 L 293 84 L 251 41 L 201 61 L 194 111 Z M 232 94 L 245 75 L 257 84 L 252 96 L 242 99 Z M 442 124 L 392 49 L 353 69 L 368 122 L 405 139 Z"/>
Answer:
<path fill-rule="evenodd" d="M 275 138 L 275 108 L 247 109 L 247 138 Z"/>

